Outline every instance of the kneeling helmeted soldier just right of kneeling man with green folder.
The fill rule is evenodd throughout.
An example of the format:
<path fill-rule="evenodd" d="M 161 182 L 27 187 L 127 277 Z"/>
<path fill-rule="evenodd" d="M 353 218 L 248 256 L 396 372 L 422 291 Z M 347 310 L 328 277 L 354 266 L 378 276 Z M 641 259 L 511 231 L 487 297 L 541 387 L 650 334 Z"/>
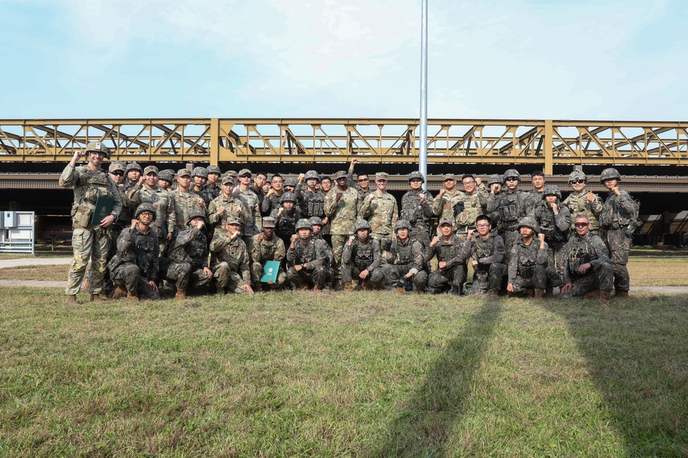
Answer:
<path fill-rule="evenodd" d="M 304 218 L 297 222 L 297 233 L 292 236 L 287 250 L 287 262 L 292 265 L 287 270 L 287 279 L 302 291 L 311 285 L 314 291 L 321 291 L 331 275 L 330 258 L 327 244 L 311 238 L 310 232 L 309 220 Z"/>

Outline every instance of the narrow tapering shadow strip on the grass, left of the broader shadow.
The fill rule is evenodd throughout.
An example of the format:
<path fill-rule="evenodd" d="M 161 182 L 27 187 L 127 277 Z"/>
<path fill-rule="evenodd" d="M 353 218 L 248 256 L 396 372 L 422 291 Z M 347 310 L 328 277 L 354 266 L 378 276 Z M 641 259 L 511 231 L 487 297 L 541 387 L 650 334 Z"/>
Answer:
<path fill-rule="evenodd" d="M 429 367 L 422 385 L 391 422 L 385 442 L 371 457 L 442 457 L 453 425 L 466 410 L 500 311 L 499 300 L 484 301 L 462 332 Z"/>

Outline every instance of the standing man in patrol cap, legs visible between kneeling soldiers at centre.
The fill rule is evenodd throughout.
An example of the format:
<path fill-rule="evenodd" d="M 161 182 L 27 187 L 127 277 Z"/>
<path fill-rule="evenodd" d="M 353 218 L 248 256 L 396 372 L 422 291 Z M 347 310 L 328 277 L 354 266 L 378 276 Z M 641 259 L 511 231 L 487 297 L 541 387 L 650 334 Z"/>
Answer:
<path fill-rule="evenodd" d="M 356 190 L 346 184 L 347 174 L 339 171 L 334 174 L 336 187 L 325 196 L 325 214 L 330 218 L 332 252 L 334 253 L 334 287 L 339 289 L 341 282 L 341 262 L 344 244 L 354 231 L 354 224 L 361 215 L 361 198 Z"/>

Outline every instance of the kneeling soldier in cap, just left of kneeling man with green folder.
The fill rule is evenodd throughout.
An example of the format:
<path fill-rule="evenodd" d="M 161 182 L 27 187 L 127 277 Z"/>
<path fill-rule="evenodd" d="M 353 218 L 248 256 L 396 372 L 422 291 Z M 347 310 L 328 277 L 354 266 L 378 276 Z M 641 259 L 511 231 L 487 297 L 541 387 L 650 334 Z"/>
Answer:
<path fill-rule="evenodd" d="M 225 231 L 216 231 L 211 241 L 211 271 L 218 295 L 252 295 L 248 249 L 241 240 L 241 220 L 229 218 Z"/>

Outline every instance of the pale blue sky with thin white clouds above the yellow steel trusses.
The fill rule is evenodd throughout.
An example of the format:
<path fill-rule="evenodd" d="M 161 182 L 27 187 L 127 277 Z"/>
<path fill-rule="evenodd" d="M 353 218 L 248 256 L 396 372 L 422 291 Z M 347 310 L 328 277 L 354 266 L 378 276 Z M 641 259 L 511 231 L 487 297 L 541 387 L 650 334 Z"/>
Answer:
<path fill-rule="evenodd" d="M 688 119 L 685 1 L 429 0 L 429 117 Z M 0 0 L 0 118 L 418 117 L 420 0 Z"/>

